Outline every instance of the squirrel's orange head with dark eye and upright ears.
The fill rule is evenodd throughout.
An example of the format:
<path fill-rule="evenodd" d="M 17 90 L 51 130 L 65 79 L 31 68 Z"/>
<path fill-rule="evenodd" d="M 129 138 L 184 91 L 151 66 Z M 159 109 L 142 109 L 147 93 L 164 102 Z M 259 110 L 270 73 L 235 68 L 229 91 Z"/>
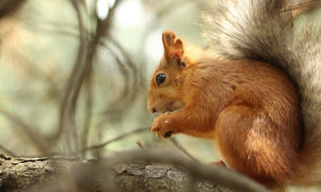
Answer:
<path fill-rule="evenodd" d="M 147 95 L 147 108 L 151 113 L 173 112 L 182 109 L 184 83 L 188 58 L 184 57 L 184 44 L 175 33 L 166 31 L 162 35 L 164 55 L 151 76 Z"/>

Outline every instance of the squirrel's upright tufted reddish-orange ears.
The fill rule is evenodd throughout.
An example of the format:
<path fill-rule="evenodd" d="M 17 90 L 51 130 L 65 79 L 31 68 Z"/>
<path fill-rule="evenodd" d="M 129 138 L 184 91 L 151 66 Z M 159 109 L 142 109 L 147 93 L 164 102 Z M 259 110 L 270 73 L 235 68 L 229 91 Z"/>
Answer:
<path fill-rule="evenodd" d="M 173 31 L 165 31 L 162 40 L 165 59 L 167 61 L 172 61 L 174 59 L 178 64 L 181 64 L 184 54 L 183 41 L 180 38 L 176 39 Z"/>

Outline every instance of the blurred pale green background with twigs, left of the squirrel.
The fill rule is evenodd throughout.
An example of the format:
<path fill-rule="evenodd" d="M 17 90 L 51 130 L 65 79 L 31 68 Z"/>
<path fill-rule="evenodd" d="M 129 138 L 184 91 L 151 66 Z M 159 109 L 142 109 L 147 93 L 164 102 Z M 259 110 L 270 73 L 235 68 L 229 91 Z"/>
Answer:
<path fill-rule="evenodd" d="M 206 46 L 199 24 L 210 1 L 16 2 L 23 3 L 0 19 L 0 153 L 99 158 L 138 148 L 140 139 L 216 160 L 211 141 L 157 139 L 149 132 L 157 114 L 146 107 L 162 32 Z"/>

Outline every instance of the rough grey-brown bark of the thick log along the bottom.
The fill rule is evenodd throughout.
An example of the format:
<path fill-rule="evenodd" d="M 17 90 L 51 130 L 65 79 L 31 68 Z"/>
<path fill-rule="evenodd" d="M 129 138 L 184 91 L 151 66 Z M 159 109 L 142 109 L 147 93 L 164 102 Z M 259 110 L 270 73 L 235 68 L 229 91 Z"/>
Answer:
<path fill-rule="evenodd" d="M 206 180 L 198 180 L 192 185 L 189 174 L 174 167 L 138 162 L 120 164 L 110 171 L 101 170 L 111 178 L 106 179 L 109 181 L 101 175 L 82 181 L 79 177 L 71 177 L 79 167 L 94 163 L 95 160 L 80 158 L 13 158 L 0 154 L 0 191 L 114 192 L 116 189 L 109 185 L 110 181 L 120 191 L 231 191 Z"/>

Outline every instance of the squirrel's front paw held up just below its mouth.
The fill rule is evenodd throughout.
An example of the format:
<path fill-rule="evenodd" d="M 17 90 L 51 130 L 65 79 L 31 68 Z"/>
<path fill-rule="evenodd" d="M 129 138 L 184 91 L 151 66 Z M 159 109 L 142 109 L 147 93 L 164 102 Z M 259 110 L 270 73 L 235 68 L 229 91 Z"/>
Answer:
<path fill-rule="evenodd" d="M 170 118 L 168 115 L 161 115 L 154 119 L 152 125 L 152 132 L 156 133 L 157 138 L 169 138 L 172 135 L 176 134 L 177 131 L 175 128 L 170 127 Z"/>

